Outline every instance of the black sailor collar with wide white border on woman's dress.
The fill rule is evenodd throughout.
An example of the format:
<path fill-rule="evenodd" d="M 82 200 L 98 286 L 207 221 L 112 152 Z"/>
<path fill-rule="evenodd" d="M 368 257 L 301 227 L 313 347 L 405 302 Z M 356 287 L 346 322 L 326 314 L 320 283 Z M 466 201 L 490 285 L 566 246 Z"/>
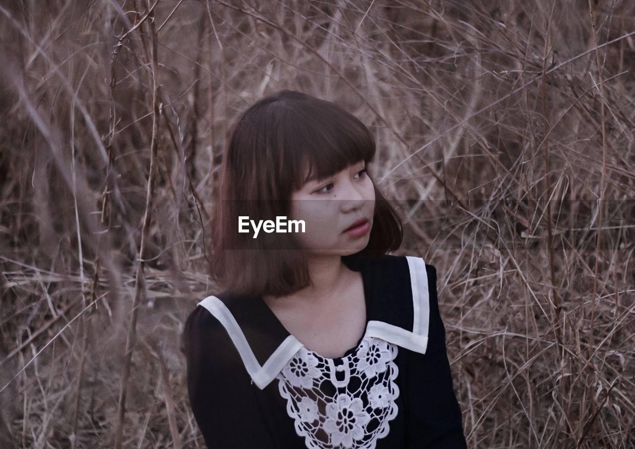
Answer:
<path fill-rule="evenodd" d="M 425 354 L 430 290 L 423 258 L 384 255 L 363 262 L 358 271 L 366 298 L 367 324 L 362 338 L 381 338 Z M 260 389 L 267 387 L 304 346 L 284 328 L 262 297 L 220 293 L 204 298 L 198 305 L 210 311 L 227 330 L 244 367 Z"/>

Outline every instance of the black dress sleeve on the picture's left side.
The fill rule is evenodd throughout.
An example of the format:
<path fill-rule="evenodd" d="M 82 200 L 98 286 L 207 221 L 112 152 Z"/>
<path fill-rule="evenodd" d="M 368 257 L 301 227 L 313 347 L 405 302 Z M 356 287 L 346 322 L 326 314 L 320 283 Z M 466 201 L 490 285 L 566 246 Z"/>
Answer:
<path fill-rule="evenodd" d="M 197 306 L 183 340 L 190 406 L 208 449 L 273 448 L 257 387 L 220 321 Z"/>

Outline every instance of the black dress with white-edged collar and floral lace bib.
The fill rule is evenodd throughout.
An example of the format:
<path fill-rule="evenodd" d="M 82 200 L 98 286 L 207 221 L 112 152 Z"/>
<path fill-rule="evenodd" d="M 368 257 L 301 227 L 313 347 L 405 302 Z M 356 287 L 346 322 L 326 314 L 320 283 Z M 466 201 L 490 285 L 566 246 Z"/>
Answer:
<path fill-rule="evenodd" d="M 363 262 L 366 332 L 340 358 L 307 350 L 262 297 L 204 298 L 184 330 L 187 389 L 210 449 L 464 449 L 439 314 L 420 257 Z"/>

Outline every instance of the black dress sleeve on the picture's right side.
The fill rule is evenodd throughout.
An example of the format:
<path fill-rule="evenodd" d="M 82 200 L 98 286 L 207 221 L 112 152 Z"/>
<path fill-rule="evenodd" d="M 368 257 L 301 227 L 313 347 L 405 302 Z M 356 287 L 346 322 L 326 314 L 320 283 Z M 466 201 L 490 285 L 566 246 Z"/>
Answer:
<path fill-rule="evenodd" d="M 467 449 L 462 413 L 453 389 L 445 326 L 439 312 L 436 267 L 425 264 L 425 270 L 430 302 L 429 340 L 425 356 L 416 362 L 422 363 L 422 379 L 415 389 L 421 396 L 419 406 L 411 411 L 417 424 L 412 432 L 421 449 Z"/>

